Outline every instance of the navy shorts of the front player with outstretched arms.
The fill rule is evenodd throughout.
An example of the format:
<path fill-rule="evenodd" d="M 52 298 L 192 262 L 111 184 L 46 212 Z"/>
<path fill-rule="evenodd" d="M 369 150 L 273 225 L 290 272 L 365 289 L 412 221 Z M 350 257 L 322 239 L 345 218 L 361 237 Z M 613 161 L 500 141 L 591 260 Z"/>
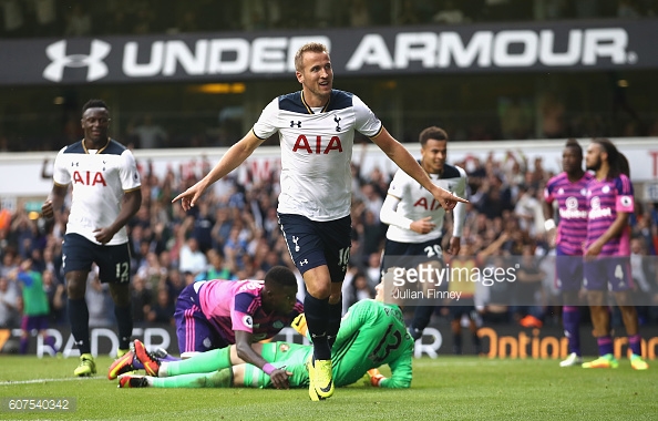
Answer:
<path fill-rule="evenodd" d="M 350 260 L 352 220 L 346 216 L 317 222 L 306 216 L 278 214 L 279 227 L 299 273 L 327 265 L 331 283 L 342 283 Z"/>

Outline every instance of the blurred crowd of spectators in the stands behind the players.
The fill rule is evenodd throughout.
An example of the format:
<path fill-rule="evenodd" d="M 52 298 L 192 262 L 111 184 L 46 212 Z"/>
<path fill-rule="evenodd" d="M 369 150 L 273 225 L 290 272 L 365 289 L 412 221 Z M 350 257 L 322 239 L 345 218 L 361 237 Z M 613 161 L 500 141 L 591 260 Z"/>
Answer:
<path fill-rule="evenodd" d="M 543 230 L 541 214 L 544 184 L 554 175 L 520 153 L 510 153 L 504 161 L 493 154 L 481 162 L 476 158 L 455 163 L 469 174 L 470 201 L 462 245 L 473 256 L 492 243 L 500 248 L 487 254 L 535 256 L 551 254 Z M 240 185 L 230 175 L 216 183 L 191 212 L 171 201 L 197 179 L 175 170 L 164 177 L 148 173 L 142 165 L 143 203 L 128 224 L 132 243 L 132 299 L 136 326 L 172 324 L 173 306 L 179 291 L 202 279 L 263 279 L 273 266 L 285 265 L 297 273 L 286 243 L 279 232 L 276 203 L 279 193 L 278 174 L 265 182 Z M 379 283 L 380 258 L 385 226 L 379 222 L 379 208 L 387 194 L 392 174 L 379 168 L 363 174 L 353 164 L 352 249 L 343 286 L 345 308 L 356 300 L 373 297 Z M 62 237 L 66 209 L 53 220 L 30 219 L 28 212 L 0 209 L 0 328 L 18 327 L 21 310 L 18 285 L 8 277 L 25 259 L 32 259 L 34 270 L 43 274 L 51 324 L 65 326 L 65 290 L 61 274 Z M 444 227 L 451 233 L 451 219 Z M 638 280 L 637 296 L 647 305 L 639 311 L 642 324 L 658 322 L 658 285 L 656 251 L 658 250 L 658 205 L 637 202 L 631 217 L 634 277 Z M 449 240 L 449 235 L 444 242 Z M 649 256 L 647 258 L 647 256 Z M 651 257 L 652 256 L 652 257 Z M 538 298 L 536 308 L 546 322 L 559 315 L 553 301 L 557 291 L 551 288 L 551 265 L 541 268 L 546 290 L 553 295 Z M 298 273 L 297 273 L 298 274 Z M 299 276 L 299 274 L 298 274 Z M 304 283 L 299 276 L 300 295 Z M 88 296 L 90 325 L 113 326 L 109 291 L 92 271 Z M 586 305 L 586 301 L 583 301 Z M 484 322 L 515 321 L 527 309 L 494 306 L 481 308 Z M 441 311 L 438 318 L 445 316 Z"/>

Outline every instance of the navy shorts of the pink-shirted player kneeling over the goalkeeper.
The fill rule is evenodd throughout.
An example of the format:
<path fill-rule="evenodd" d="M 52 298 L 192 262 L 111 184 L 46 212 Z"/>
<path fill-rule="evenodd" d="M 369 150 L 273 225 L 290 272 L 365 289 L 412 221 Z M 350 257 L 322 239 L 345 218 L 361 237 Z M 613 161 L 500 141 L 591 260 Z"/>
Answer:
<path fill-rule="evenodd" d="M 232 345 L 219 335 L 219 327 L 212 324 L 202 311 L 198 305 L 198 289 L 202 285 L 203 281 L 196 281 L 186 286 L 176 299 L 174 319 L 181 353 L 205 352 Z"/>

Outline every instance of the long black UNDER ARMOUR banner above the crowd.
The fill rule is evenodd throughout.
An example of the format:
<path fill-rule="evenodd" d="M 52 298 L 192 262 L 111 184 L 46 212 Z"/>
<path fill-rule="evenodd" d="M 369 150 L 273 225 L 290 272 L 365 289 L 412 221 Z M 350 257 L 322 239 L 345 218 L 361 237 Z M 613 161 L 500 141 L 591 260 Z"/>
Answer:
<path fill-rule="evenodd" d="M 337 75 L 658 68 L 655 20 L 525 22 L 0 41 L 0 84 L 290 78 L 306 42 Z"/>

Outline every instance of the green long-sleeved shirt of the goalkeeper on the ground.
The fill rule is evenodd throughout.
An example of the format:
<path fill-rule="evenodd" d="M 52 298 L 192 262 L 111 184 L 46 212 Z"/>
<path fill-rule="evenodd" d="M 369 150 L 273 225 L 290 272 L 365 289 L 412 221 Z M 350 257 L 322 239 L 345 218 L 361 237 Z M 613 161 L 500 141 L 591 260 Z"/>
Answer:
<path fill-rule="evenodd" d="M 400 307 L 372 299 L 352 305 L 345 315 L 331 350 L 333 382 L 351 384 L 370 369 L 388 364 L 392 376 L 382 388 L 409 388 L 413 339 Z"/>

